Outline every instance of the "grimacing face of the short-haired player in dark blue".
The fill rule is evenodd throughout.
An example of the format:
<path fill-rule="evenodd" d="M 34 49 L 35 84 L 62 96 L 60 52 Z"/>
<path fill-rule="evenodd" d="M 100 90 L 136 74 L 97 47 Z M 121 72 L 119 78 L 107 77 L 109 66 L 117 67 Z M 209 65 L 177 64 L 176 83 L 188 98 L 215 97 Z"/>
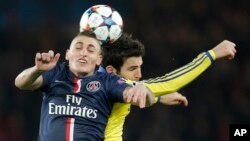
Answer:
<path fill-rule="evenodd" d="M 70 70 L 78 77 L 92 75 L 102 61 L 101 47 L 95 38 L 77 36 L 66 53 Z"/>

